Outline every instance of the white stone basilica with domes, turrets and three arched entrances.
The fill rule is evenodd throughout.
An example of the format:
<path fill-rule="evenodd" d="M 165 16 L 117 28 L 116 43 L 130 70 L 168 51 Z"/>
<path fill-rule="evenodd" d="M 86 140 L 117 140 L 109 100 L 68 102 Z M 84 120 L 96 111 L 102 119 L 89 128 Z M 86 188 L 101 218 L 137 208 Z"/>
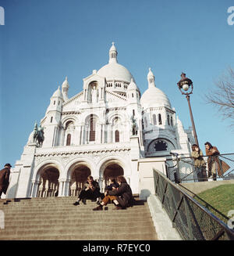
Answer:
<path fill-rule="evenodd" d="M 140 193 L 140 159 L 190 153 L 193 133 L 176 118 L 151 68 L 147 83 L 141 95 L 118 63 L 114 43 L 108 64 L 83 78 L 83 91 L 70 99 L 66 78 L 41 119 L 44 142 L 38 146 L 30 134 L 12 168 L 7 197 L 75 196 L 88 175 L 102 191 L 109 177 L 124 175 L 133 193 Z"/>

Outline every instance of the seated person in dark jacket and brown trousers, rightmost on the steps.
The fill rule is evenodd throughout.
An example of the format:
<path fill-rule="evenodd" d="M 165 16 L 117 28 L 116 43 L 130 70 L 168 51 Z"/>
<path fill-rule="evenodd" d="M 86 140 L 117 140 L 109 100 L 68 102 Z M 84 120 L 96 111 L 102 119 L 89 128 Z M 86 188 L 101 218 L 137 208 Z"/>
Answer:
<path fill-rule="evenodd" d="M 105 197 L 101 201 L 101 204 L 93 209 L 93 211 L 102 211 L 103 206 L 108 204 L 109 200 L 112 200 L 115 204 L 114 210 L 122 210 L 130 205 L 133 205 L 133 193 L 130 186 L 127 184 L 126 179 L 123 176 L 117 177 L 119 187 L 112 187 L 112 190 L 105 192 Z"/>

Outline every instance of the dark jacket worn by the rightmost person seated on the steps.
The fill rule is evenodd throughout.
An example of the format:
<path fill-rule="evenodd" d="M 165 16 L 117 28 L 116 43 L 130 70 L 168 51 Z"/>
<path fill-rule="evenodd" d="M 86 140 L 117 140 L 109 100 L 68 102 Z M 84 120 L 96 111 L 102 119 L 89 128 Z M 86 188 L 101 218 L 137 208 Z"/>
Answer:
<path fill-rule="evenodd" d="M 133 193 L 132 189 L 127 183 L 121 183 L 119 188 L 108 191 L 108 195 L 116 196 L 117 201 L 122 207 L 129 207 L 133 205 Z"/>

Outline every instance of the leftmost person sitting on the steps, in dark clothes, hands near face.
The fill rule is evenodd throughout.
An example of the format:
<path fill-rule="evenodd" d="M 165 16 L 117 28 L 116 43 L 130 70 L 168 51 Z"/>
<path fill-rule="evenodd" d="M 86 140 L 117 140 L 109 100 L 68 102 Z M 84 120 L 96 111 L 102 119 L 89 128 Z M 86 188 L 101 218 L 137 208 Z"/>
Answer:
<path fill-rule="evenodd" d="M 86 204 L 86 200 L 99 200 L 101 197 L 100 186 L 98 182 L 94 181 L 92 176 L 87 177 L 87 183 L 85 183 L 83 190 L 81 190 L 78 200 L 74 203 L 74 205 L 79 205 L 82 200 L 83 204 Z"/>

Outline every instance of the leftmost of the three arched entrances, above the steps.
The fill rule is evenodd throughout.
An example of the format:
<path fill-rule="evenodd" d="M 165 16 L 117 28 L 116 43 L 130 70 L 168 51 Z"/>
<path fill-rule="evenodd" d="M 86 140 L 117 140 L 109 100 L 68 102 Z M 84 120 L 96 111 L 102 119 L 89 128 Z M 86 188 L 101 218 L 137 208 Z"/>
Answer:
<path fill-rule="evenodd" d="M 58 168 L 52 164 L 44 167 L 40 173 L 37 197 L 58 197 Z"/>

